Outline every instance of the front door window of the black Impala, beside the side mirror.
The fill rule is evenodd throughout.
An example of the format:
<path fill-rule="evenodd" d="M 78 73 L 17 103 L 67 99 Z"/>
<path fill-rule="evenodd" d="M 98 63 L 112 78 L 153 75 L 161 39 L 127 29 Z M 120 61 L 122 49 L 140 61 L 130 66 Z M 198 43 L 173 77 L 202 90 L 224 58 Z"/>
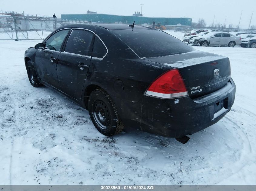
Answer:
<path fill-rule="evenodd" d="M 46 40 L 45 47 L 50 50 L 60 51 L 63 41 L 67 36 L 69 30 L 61 30 L 54 33 Z"/>

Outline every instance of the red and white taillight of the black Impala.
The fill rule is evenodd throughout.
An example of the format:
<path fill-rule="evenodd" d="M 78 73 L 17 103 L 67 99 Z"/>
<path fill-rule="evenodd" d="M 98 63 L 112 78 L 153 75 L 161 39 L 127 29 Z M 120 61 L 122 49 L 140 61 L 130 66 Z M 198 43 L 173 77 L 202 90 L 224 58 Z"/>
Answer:
<path fill-rule="evenodd" d="M 178 69 L 171 69 L 155 79 L 145 95 L 161 98 L 177 98 L 188 95 L 185 83 Z"/>

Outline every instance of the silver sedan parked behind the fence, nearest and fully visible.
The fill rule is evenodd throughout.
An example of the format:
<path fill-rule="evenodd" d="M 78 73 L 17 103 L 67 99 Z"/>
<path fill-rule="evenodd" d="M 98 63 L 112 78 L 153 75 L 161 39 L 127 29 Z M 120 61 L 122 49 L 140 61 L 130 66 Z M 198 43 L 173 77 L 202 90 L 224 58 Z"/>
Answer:
<path fill-rule="evenodd" d="M 234 47 L 242 43 L 241 37 L 223 32 L 210 32 L 200 37 L 194 37 L 190 40 L 191 44 L 199 46 L 228 46 Z"/>

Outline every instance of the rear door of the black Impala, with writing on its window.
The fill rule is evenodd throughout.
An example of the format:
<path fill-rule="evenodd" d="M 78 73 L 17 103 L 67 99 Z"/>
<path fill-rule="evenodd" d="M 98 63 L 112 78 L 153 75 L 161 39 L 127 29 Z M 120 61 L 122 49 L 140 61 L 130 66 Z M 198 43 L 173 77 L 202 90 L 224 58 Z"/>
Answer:
<path fill-rule="evenodd" d="M 81 101 L 84 81 L 92 56 L 95 33 L 86 29 L 72 29 L 65 51 L 58 56 L 57 74 L 60 90 Z"/>

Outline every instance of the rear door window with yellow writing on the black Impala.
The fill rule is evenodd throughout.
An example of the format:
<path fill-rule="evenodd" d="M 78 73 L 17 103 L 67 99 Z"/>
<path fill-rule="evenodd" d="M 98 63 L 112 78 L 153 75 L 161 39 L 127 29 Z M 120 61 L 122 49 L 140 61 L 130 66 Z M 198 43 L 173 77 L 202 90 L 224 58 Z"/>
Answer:
<path fill-rule="evenodd" d="M 94 34 L 87 30 L 72 30 L 65 47 L 65 52 L 91 56 Z"/>

